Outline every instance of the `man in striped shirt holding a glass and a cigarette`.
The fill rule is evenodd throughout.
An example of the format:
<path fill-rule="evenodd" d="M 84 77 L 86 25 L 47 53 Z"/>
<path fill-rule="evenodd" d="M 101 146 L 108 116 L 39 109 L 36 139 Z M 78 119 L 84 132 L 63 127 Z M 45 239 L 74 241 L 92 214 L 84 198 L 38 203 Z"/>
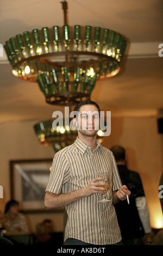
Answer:
<path fill-rule="evenodd" d="M 75 108 L 76 142 L 55 154 L 46 188 L 46 209 L 65 206 L 67 224 L 65 245 L 110 245 L 121 242 L 120 228 L 113 204 L 130 194 L 122 186 L 116 162 L 109 149 L 96 139 L 100 109 L 96 102 L 86 100 Z M 108 184 L 96 172 L 109 173 L 111 191 L 99 186 Z M 102 193 L 112 202 L 98 203 Z M 109 199 L 110 199 L 109 198 Z"/>

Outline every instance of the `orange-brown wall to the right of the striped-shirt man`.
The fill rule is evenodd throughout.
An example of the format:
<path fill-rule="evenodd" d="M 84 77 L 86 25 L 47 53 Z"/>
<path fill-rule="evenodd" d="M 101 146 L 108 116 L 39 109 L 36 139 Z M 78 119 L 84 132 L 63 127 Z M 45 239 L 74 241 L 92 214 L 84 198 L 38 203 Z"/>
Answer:
<path fill-rule="evenodd" d="M 163 171 L 162 135 L 156 117 L 111 118 L 111 135 L 103 145 L 126 148 L 128 168 L 140 173 L 153 228 L 163 227 L 158 187 Z"/>

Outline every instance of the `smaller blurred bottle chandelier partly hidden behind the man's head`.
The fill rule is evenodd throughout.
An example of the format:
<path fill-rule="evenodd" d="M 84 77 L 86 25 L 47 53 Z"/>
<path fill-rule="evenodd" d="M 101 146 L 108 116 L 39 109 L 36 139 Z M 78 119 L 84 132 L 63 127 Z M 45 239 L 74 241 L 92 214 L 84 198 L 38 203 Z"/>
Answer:
<path fill-rule="evenodd" d="M 42 145 L 52 146 L 55 152 L 73 144 L 78 136 L 77 130 L 72 130 L 70 125 L 57 126 L 57 129 L 53 129 L 54 120 L 44 120 L 34 125 L 34 131 L 37 140 Z M 102 143 L 103 130 L 99 129 L 97 132 L 97 139 Z"/>

